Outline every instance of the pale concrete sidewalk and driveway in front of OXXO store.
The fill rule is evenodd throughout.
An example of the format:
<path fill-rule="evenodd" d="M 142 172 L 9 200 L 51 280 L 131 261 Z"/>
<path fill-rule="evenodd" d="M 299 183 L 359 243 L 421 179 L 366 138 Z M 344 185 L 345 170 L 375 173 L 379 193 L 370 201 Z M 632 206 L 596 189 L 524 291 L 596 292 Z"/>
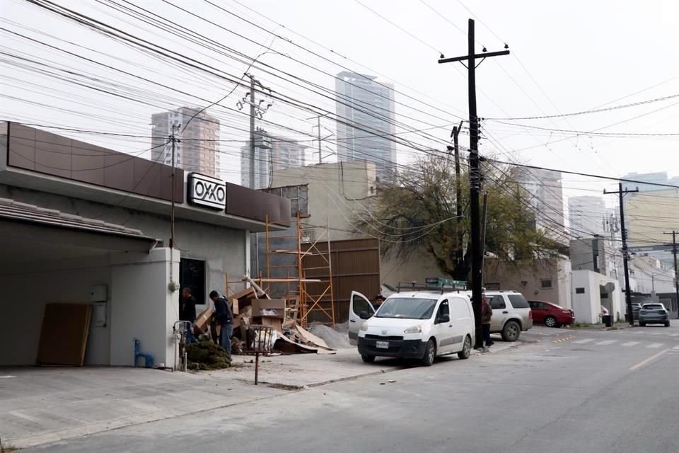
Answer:
<path fill-rule="evenodd" d="M 519 345 L 496 338 L 491 350 Z M 335 355 L 260 357 L 260 385 L 255 386 L 254 357 L 234 356 L 233 365 L 187 373 L 127 367 L 0 368 L 0 438 L 11 447 L 44 445 L 414 366 L 393 359 L 366 364 L 354 348 Z"/>

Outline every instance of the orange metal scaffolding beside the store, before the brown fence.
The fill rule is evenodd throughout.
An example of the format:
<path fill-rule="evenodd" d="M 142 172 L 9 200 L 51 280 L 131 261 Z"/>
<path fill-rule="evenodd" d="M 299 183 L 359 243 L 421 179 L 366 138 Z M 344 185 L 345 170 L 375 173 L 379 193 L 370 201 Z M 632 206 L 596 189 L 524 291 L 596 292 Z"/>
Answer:
<path fill-rule="evenodd" d="M 253 277 L 268 294 L 282 294 L 286 299 L 286 314 L 302 327 L 315 321 L 335 325 L 335 297 L 332 288 L 332 260 L 330 259 L 330 225 L 308 224 L 308 217 L 297 215 L 288 224 L 294 234 L 272 236 L 269 219 L 266 223 L 266 277 Z M 321 231 L 320 234 L 315 234 Z M 294 239 L 296 248 L 272 249 L 272 239 Z M 327 243 L 327 251 L 319 244 Z M 259 251 L 257 251 L 258 253 Z M 272 257 L 282 259 L 272 264 Z M 283 257 L 289 257 L 283 258 Z"/>

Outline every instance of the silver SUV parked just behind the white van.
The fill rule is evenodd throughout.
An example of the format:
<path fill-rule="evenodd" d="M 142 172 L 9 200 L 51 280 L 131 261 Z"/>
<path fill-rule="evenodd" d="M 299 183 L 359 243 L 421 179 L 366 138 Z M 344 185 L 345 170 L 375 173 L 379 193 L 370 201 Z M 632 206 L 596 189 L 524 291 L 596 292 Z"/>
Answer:
<path fill-rule="evenodd" d="M 516 291 L 486 291 L 484 294 L 493 307 L 491 333 L 501 333 L 505 341 L 516 341 L 521 331 L 533 327 L 533 313 L 523 294 Z"/>

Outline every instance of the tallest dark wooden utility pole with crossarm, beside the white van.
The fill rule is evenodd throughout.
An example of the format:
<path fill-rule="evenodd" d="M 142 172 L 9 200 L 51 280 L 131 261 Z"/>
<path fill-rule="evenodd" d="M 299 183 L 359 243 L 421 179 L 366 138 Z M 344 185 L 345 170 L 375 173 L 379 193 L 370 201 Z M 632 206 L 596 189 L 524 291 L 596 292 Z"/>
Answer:
<path fill-rule="evenodd" d="M 476 323 L 476 345 L 475 348 L 482 348 L 481 330 L 481 298 L 483 296 L 482 278 L 482 245 L 481 245 L 481 225 L 480 225 L 480 205 L 479 193 L 481 191 L 480 161 L 479 161 L 479 119 L 476 114 L 476 59 L 487 57 L 499 57 L 509 55 L 509 50 L 500 52 L 474 52 L 474 20 L 469 19 L 469 31 L 467 36 L 467 55 L 461 57 L 446 58 L 441 55 L 439 63 L 467 61 L 468 71 L 468 98 L 469 98 L 469 182 L 470 182 L 470 216 L 471 216 L 471 240 L 472 240 L 472 307 L 474 309 L 474 319 Z M 509 47 L 504 46 L 505 49 Z M 486 50 L 485 47 L 483 50 Z"/>

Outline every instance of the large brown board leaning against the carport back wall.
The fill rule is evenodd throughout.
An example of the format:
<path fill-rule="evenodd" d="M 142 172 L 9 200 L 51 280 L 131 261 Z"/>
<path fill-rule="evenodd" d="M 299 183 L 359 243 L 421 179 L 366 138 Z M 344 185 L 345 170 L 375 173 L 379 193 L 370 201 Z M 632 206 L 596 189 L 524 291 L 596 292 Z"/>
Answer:
<path fill-rule="evenodd" d="M 90 331 L 90 304 L 47 304 L 42 317 L 37 365 L 71 365 L 85 362 Z"/>

